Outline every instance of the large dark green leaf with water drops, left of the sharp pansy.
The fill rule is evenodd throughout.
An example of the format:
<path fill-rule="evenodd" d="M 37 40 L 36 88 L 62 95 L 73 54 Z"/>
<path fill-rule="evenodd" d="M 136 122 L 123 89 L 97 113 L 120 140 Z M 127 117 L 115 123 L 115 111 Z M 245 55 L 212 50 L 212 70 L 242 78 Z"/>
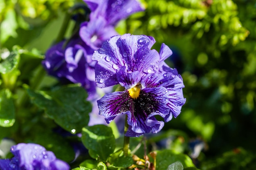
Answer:
<path fill-rule="evenodd" d="M 32 102 L 45 109 L 49 118 L 65 130 L 81 132 L 88 125 L 92 106 L 86 101 L 87 94 L 82 87 L 62 86 L 47 92 L 35 92 L 28 88 L 27 92 Z"/>

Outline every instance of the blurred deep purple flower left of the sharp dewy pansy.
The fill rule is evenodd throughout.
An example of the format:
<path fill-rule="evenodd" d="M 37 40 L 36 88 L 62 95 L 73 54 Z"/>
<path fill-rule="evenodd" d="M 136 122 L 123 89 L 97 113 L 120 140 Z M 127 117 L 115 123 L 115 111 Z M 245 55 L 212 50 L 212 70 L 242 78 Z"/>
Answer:
<path fill-rule="evenodd" d="M 87 90 L 89 99 L 94 98 L 96 95 L 94 73 L 96 62 L 92 61 L 94 50 L 80 38 L 66 43 L 62 41 L 48 49 L 42 62 L 43 67 L 49 75 L 80 83 Z"/>

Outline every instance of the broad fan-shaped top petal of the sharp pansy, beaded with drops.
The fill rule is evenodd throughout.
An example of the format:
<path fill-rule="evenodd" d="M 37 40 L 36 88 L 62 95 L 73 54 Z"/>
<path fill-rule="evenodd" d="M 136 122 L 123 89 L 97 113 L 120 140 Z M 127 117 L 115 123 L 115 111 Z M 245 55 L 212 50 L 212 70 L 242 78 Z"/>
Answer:
<path fill-rule="evenodd" d="M 96 69 L 96 78 L 101 82 L 105 82 L 110 77 L 114 80 L 115 74 L 122 66 L 126 66 L 128 73 L 139 71 L 141 77 L 157 72 L 159 54 L 149 49 L 154 43 L 155 40 L 146 35 L 125 34 L 112 37 L 92 56 L 93 60 L 98 61 L 96 67 L 99 71 Z M 115 85 L 114 83 L 116 81 L 109 85 Z M 99 87 L 106 87 L 106 84 L 101 83 Z"/>

